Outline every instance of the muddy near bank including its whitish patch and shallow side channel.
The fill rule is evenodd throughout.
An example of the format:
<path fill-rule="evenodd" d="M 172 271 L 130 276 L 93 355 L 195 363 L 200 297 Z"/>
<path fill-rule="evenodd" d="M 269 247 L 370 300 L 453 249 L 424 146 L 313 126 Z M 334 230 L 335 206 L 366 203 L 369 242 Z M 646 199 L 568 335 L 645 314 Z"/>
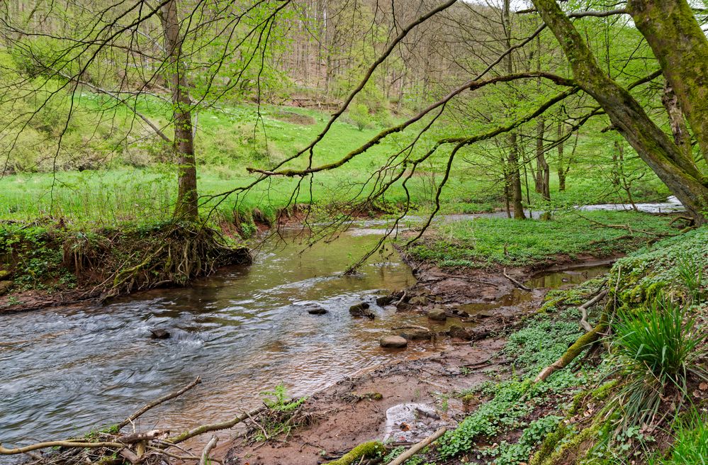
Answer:
<path fill-rule="evenodd" d="M 306 411 L 318 418 L 314 425 L 265 443 L 237 437 L 220 447 L 220 456 L 232 465 L 315 465 L 372 439 L 409 445 L 439 427 L 452 429 L 480 398 L 454 398 L 449 393 L 506 376 L 510 360 L 500 354 L 505 335 L 535 313 L 549 288 L 585 281 L 607 271 L 608 264 L 609 260 L 558 264 L 554 272 L 540 274 L 533 269 L 506 270 L 522 286 L 546 286 L 530 291 L 501 272 L 450 272 L 417 264 L 417 284 L 394 293 L 391 303 L 399 314 L 444 310 L 444 330 L 436 330 L 432 320 L 427 324 L 439 352 L 339 381 L 305 403 Z M 410 338 L 408 349 L 422 344 L 431 342 Z M 253 425 L 240 434 L 247 435 L 249 427 Z"/>

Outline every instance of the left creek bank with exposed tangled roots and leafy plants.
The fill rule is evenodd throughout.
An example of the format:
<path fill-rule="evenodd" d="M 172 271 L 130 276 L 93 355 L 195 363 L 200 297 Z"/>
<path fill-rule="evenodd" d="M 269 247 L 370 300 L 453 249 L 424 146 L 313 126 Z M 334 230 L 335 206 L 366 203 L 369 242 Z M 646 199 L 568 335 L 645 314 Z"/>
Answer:
<path fill-rule="evenodd" d="M 2 223 L 0 257 L 0 315 L 186 286 L 252 262 L 240 238 L 181 222 L 88 231 L 61 222 Z"/>

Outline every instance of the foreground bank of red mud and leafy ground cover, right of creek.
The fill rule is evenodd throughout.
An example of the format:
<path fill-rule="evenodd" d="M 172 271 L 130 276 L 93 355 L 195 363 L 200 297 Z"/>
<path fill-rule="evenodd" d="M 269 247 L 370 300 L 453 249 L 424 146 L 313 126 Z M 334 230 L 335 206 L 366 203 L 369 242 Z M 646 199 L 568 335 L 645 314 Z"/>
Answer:
<path fill-rule="evenodd" d="M 667 262 L 684 254 L 702 253 L 698 266 L 705 267 L 705 233 L 703 228 L 685 242 L 675 237 L 653 249 L 648 247 L 649 252 L 640 253 L 638 258 L 624 260 L 629 274 L 622 276 L 620 271 L 617 275 L 615 298 L 622 298 L 620 291 L 628 284 L 627 289 L 636 291 L 641 286 L 651 286 L 642 284 L 643 279 L 648 279 L 647 283 L 658 282 L 652 281 L 657 278 L 649 274 L 651 269 L 662 280 L 670 281 L 668 276 L 676 270 L 667 269 Z M 592 266 L 597 261 L 585 260 L 584 264 Z M 310 419 L 307 425 L 288 430 L 287 434 L 254 440 L 252 434 L 249 436 L 254 425 L 248 425 L 237 439 L 220 447 L 225 464 L 322 464 L 375 440 L 386 444 L 386 453 L 362 456 L 352 463 L 388 464 L 441 427 L 446 427 L 448 434 L 406 464 L 545 464 L 554 454 L 554 447 L 556 459 L 561 459 L 552 463 L 561 464 L 575 463 L 573 456 L 588 453 L 588 444 L 596 440 L 592 439 L 595 415 L 602 411 L 602 404 L 618 382 L 616 375 L 609 375 L 605 356 L 591 351 L 548 381 L 533 380 L 583 335 L 577 307 L 597 295 L 607 276 L 551 291 L 522 291 L 512 279 L 526 281 L 538 274 L 536 267 L 515 267 L 502 273 L 499 269 L 441 269 L 431 261 L 416 265 L 417 284 L 403 296 L 398 293 L 393 298 L 400 299 L 398 307 L 402 311 L 425 313 L 442 307 L 446 318 L 460 320 L 459 327 L 440 333 L 432 329 L 431 337 L 423 335 L 421 340 L 408 341 L 409 346 L 439 344 L 440 352 L 382 366 L 313 394 L 305 400 L 301 412 Z M 568 260 L 561 257 L 554 269 L 567 265 Z M 633 266 L 639 274 L 631 271 Z M 461 314 L 463 309 L 473 314 Z M 590 306 L 590 321 L 597 321 L 601 312 L 600 307 Z M 699 315 L 704 325 L 708 308 L 703 306 Z M 436 322 L 430 323 L 434 328 Z M 409 339 L 420 329 L 398 331 L 405 332 Z M 619 380 L 622 383 L 621 376 Z M 692 402 L 705 405 L 708 386 L 698 386 L 697 382 L 692 386 Z M 587 444 L 578 444 L 568 437 L 557 442 L 568 435 L 569 427 L 584 433 L 592 430 L 590 436 L 570 434 L 571 438 L 573 434 L 584 437 Z M 546 437 L 554 437 L 551 433 L 556 435 L 556 442 L 541 447 Z M 612 439 L 615 440 L 620 450 L 638 460 L 636 463 L 646 463 L 649 449 L 667 449 L 672 442 L 670 427 L 656 430 L 653 435 L 619 435 Z M 534 459 L 539 447 L 544 453 Z"/>

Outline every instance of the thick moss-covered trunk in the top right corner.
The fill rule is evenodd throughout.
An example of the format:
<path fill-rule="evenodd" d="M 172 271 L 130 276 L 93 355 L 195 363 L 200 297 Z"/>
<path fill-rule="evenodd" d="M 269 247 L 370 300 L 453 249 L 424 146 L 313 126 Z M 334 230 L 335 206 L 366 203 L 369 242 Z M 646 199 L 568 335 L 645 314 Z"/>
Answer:
<path fill-rule="evenodd" d="M 627 11 L 653 50 L 703 155 L 707 155 L 708 40 L 690 5 L 686 0 L 630 0 Z M 697 176 L 691 160 L 676 162 Z"/>

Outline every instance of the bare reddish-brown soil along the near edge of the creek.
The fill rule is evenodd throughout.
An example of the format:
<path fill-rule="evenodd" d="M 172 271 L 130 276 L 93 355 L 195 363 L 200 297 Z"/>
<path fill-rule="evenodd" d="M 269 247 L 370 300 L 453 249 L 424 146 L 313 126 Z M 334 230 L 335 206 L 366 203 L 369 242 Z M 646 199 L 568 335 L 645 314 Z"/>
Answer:
<path fill-rule="evenodd" d="M 459 305 L 493 301 L 515 289 L 515 285 L 502 274 L 483 270 L 446 273 L 436 267 L 417 267 L 416 274 L 419 282 L 406 290 L 403 301 L 425 296 L 429 303 L 409 305 L 408 311 L 425 311 L 441 305 L 452 310 Z M 529 275 L 529 270 L 507 270 L 507 274 L 521 281 Z M 442 425 L 454 427 L 471 405 L 463 405 L 460 399 L 447 398 L 440 393 L 463 391 L 505 373 L 507 360 L 499 354 L 505 344 L 504 335 L 519 325 L 522 315 L 537 308 L 543 296 L 543 291 L 532 291 L 529 301 L 512 311 L 500 309 L 476 321 L 460 319 L 456 324 L 472 328 L 474 334 L 490 337 L 465 342 L 441 334 L 443 348 L 439 354 L 383 366 L 315 393 L 304 408 L 307 413 L 320 418 L 314 425 L 300 427 L 288 437 L 266 443 L 248 443 L 240 437 L 220 447 L 217 455 L 225 459 L 227 465 L 319 464 L 362 442 L 383 439 L 386 410 L 406 403 L 425 404 L 434 410 L 434 416 L 439 417 L 419 415 L 416 421 L 421 424 L 416 423 L 405 434 L 409 442 L 410 439 L 413 442 L 422 439 Z M 406 306 L 402 302 L 400 307 Z M 406 350 L 415 348 L 415 344 L 430 343 L 409 342 Z M 381 399 L 359 400 L 359 396 L 367 393 L 380 393 Z M 416 433 L 417 437 L 409 436 Z M 397 434 L 392 437 L 394 442 L 401 439 Z"/>

